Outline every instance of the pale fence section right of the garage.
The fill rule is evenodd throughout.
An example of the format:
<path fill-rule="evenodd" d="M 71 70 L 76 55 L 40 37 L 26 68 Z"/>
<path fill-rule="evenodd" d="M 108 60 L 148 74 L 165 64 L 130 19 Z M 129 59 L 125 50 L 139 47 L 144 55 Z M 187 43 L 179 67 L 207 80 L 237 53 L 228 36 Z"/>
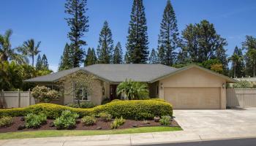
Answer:
<path fill-rule="evenodd" d="M 227 107 L 256 107 L 256 88 L 227 88 Z"/>

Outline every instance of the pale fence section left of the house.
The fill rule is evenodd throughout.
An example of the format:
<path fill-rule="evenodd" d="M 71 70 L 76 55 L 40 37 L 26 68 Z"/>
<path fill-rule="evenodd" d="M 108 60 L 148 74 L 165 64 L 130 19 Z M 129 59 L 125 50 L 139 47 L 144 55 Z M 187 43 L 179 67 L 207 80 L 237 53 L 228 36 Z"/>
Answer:
<path fill-rule="evenodd" d="M 0 108 L 27 107 L 35 104 L 30 91 L 0 91 Z"/>

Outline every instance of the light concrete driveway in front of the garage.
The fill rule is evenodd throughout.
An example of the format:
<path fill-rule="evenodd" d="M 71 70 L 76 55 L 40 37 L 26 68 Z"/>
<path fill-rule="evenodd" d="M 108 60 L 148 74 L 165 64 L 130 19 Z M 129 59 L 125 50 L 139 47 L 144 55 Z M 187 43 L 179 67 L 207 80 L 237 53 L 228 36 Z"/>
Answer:
<path fill-rule="evenodd" d="M 197 134 L 256 134 L 256 108 L 244 110 L 174 110 L 174 116 L 184 131 Z"/>

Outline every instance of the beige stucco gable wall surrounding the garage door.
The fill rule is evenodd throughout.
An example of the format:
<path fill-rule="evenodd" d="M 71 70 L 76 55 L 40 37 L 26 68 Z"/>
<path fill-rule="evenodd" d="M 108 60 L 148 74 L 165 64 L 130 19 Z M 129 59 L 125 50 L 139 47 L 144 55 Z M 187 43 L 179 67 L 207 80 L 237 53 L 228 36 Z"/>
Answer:
<path fill-rule="evenodd" d="M 219 88 L 220 93 L 220 109 L 226 108 L 226 88 L 222 88 L 222 84 L 226 81 L 222 77 L 203 71 L 196 67 L 173 74 L 159 81 L 159 98 L 165 98 L 165 88 Z M 199 88 L 199 89 L 198 89 Z M 211 91 L 209 91 L 211 94 Z M 186 104 L 186 102 L 184 103 Z M 187 102 L 189 104 L 189 102 Z M 203 103 L 202 103 L 203 104 Z"/>

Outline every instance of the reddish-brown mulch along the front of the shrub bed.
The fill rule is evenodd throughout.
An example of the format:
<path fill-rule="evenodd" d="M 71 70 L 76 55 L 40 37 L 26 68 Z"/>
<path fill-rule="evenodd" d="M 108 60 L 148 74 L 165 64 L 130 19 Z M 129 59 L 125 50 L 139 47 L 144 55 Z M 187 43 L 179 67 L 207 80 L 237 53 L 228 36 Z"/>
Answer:
<path fill-rule="evenodd" d="M 18 130 L 19 126 L 25 125 L 25 121 L 21 121 L 22 117 L 15 117 L 13 118 L 13 124 L 9 127 L 1 127 L 0 133 L 4 132 L 14 132 L 14 131 L 37 131 L 37 130 L 56 130 L 56 127 L 50 127 L 50 123 L 53 122 L 53 120 L 47 120 L 47 123 L 42 125 L 40 128 L 25 128 L 23 130 Z M 143 126 L 162 126 L 160 123 L 154 122 L 154 120 L 147 120 L 148 123 L 145 123 L 143 120 L 126 120 L 124 125 L 119 126 L 118 129 L 121 128 L 135 128 L 135 127 L 143 127 Z M 102 120 L 97 119 L 97 123 L 95 123 L 93 126 L 84 126 L 82 122 L 80 122 L 80 119 L 77 120 L 77 124 L 75 128 L 72 128 L 73 130 L 110 130 L 110 124 L 113 121 L 105 122 Z M 179 127 L 176 120 L 172 120 L 170 126 L 173 127 Z M 100 129 L 99 129 L 100 128 Z"/>

